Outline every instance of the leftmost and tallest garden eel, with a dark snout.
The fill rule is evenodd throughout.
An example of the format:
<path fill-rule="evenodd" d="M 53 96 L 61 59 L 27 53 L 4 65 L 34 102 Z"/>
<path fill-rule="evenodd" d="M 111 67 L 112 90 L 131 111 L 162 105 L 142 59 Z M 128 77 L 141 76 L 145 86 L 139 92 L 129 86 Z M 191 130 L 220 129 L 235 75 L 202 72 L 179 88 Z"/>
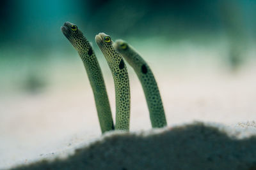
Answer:
<path fill-rule="evenodd" d="M 109 106 L 108 94 L 102 77 L 102 71 L 95 53 L 93 52 L 92 46 L 75 24 L 65 22 L 61 27 L 61 31 L 74 48 L 76 48 L 79 56 L 83 60 L 84 67 L 93 90 L 102 133 L 113 130 L 114 125 Z"/>

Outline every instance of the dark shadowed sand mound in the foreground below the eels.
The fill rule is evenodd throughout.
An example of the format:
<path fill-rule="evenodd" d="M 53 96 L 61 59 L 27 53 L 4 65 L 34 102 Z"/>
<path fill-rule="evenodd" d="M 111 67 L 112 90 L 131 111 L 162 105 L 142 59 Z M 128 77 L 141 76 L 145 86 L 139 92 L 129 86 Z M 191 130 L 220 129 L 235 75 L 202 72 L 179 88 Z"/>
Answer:
<path fill-rule="evenodd" d="M 15 169 L 256 169 L 255 132 L 245 126 L 196 122 L 147 132 L 109 132 L 67 159 Z"/>

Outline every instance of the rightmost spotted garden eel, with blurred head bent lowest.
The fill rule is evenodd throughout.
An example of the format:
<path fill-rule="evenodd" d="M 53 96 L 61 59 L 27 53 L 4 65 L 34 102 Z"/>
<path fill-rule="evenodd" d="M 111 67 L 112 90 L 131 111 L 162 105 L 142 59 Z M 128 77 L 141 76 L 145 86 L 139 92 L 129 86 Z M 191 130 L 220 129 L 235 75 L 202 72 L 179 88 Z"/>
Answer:
<path fill-rule="evenodd" d="M 152 127 L 166 126 L 166 118 L 164 115 L 163 103 L 157 87 L 154 74 L 152 73 L 147 62 L 128 45 L 125 41 L 116 40 L 113 47 L 122 57 L 132 66 L 137 74 L 147 99 L 148 110 L 150 113 L 150 121 Z"/>

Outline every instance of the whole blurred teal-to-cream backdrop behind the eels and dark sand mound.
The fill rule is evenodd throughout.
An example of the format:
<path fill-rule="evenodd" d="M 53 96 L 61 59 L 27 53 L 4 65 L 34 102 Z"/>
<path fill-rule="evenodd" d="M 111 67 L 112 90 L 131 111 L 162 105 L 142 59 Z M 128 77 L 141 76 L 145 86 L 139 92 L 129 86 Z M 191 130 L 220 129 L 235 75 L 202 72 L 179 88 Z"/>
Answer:
<path fill-rule="evenodd" d="M 93 44 L 114 121 L 113 78 L 94 40 L 99 32 L 124 39 L 148 62 L 168 125 L 255 120 L 255 9 L 249 0 L 1 1 L 0 169 L 100 136 L 83 63 L 60 31 L 66 21 Z M 131 131 L 150 129 L 143 90 L 128 69 Z"/>

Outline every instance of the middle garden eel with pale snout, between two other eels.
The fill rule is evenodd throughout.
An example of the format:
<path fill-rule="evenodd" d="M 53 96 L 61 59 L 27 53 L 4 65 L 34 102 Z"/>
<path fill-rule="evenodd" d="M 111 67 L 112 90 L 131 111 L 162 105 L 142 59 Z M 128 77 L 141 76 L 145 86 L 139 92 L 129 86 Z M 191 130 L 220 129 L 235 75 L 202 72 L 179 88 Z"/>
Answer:
<path fill-rule="evenodd" d="M 129 131 L 130 121 L 130 88 L 127 68 L 122 56 L 112 46 L 110 36 L 99 33 L 95 41 L 106 58 L 115 83 L 116 97 L 116 130 Z"/>

